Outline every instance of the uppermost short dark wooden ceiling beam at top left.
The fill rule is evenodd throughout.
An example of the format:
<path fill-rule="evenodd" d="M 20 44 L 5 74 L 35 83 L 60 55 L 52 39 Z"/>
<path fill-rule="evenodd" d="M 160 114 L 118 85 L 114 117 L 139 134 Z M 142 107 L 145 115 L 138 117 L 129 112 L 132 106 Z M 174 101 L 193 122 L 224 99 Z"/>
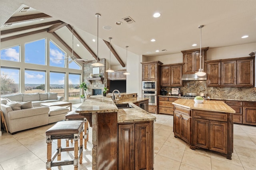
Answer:
<path fill-rule="evenodd" d="M 24 21 L 39 20 L 39 19 L 44 19 L 44 18 L 51 18 L 51 16 L 48 16 L 48 15 L 46 15 L 44 13 L 30 14 L 30 15 L 25 15 L 25 16 L 16 16 L 16 17 L 11 17 L 4 24 L 11 24 L 11 23 L 24 22 Z"/>

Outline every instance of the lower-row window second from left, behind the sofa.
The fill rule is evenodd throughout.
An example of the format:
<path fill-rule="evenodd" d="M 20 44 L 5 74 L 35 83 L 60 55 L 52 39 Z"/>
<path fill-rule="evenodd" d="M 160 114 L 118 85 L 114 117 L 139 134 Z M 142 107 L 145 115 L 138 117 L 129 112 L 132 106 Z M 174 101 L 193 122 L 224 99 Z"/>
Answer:
<path fill-rule="evenodd" d="M 25 93 L 45 92 L 45 71 L 25 69 Z"/>

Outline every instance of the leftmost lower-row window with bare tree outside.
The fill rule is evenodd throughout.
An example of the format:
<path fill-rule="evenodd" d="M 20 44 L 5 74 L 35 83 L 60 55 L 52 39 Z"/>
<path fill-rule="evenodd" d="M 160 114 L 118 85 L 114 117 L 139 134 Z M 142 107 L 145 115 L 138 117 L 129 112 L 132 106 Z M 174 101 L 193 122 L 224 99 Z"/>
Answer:
<path fill-rule="evenodd" d="M 20 70 L 1 67 L 1 94 L 19 93 Z"/>

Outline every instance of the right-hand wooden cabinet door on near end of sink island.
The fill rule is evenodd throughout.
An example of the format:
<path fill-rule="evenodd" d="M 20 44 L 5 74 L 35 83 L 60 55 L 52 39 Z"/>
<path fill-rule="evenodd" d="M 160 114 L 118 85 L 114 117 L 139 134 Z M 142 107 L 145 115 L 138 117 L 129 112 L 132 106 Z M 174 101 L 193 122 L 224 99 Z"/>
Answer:
<path fill-rule="evenodd" d="M 150 170 L 153 168 L 152 128 L 153 125 L 150 123 L 135 124 L 135 170 Z"/>

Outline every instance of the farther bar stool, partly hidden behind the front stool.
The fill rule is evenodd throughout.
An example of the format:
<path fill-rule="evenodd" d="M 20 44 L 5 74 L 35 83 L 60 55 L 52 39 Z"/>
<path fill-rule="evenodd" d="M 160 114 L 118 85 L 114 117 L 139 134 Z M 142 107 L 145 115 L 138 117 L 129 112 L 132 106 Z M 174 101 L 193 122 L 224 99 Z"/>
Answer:
<path fill-rule="evenodd" d="M 89 125 L 87 119 L 80 115 L 79 113 L 76 113 L 75 111 L 70 111 L 65 118 L 66 121 L 70 120 L 83 120 L 84 121 L 84 149 L 87 148 L 87 141 L 89 136 Z M 73 143 L 73 140 L 71 139 L 71 143 Z M 66 147 L 69 147 L 69 139 L 66 139 Z"/>

